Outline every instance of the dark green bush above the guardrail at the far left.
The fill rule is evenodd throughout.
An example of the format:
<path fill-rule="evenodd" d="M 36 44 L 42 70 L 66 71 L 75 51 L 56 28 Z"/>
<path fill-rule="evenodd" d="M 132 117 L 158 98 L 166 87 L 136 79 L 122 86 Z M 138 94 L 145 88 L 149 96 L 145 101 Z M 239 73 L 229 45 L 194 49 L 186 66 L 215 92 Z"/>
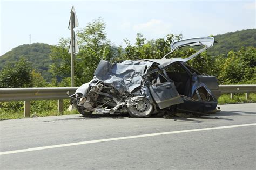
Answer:
<path fill-rule="evenodd" d="M 6 65 L 0 72 L 0 87 L 32 87 L 32 74 L 29 62 L 19 60 L 14 65 Z"/>

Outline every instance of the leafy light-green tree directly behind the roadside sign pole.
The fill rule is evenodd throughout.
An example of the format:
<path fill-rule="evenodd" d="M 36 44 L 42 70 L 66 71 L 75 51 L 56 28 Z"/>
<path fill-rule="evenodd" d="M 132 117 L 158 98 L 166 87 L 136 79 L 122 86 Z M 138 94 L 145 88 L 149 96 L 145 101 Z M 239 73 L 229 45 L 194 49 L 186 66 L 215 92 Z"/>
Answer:
<path fill-rule="evenodd" d="M 111 61 L 117 48 L 106 38 L 102 19 L 93 20 L 84 29 L 77 31 L 79 53 L 75 56 L 75 86 L 88 82 L 101 59 Z M 58 86 L 71 86 L 71 57 L 68 54 L 69 39 L 61 38 L 59 44 L 51 48 L 51 72 L 61 79 Z"/>

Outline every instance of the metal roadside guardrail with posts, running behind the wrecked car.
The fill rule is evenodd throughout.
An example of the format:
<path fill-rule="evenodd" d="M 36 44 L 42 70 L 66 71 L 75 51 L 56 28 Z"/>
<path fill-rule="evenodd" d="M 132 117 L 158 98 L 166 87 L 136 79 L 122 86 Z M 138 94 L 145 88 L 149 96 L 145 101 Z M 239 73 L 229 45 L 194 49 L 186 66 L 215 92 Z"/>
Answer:
<path fill-rule="evenodd" d="M 68 99 L 66 91 L 75 93 L 78 87 L 45 87 L 45 88 L 0 88 L 0 102 L 24 101 L 24 117 L 30 117 L 30 101 L 33 100 L 58 100 L 58 112 L 63 112 L 63 99 Z M 246 99 L 249 93 L 256 92 L 256 85 L 219 85 L 213 93 L 245 93 Z"/>

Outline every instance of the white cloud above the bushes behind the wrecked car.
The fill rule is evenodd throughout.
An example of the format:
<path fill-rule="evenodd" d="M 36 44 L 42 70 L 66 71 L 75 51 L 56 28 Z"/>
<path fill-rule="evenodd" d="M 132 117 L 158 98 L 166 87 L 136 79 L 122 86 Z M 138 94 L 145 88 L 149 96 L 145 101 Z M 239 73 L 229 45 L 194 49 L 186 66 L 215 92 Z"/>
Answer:
<path fill-rule="evenodd" d="M 171 33 L 171 24 L 163 20 L 151 19 L 146 23 L 133 25 L 133 31 L 142 34 L 151 34 L 152 36 L 163 37 Z"/>

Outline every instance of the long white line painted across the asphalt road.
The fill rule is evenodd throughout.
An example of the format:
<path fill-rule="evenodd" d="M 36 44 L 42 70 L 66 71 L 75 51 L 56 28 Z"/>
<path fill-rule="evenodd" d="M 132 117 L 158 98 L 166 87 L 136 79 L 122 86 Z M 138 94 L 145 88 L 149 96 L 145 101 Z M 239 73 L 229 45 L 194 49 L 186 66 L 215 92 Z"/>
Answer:
<path fill-rule="evenodd" d="M 143 137 L 150 137 L 150 136 L 159 136 L 159 135 L 166 135 L 166 134 L 186 133 L 186 132 L 196 132 L 196 131 L 205 131 L 205 130 L 215 130 L 215 129 L 238 128 L 238 127 L 255 126 L 255 125 L 256 125 L 256 123 L 251 123 L 251 124 L 241 124 L 241 125 L 232 125 L 232 126 L 220 126 L 220 127 L 213 127 L 213 128 L 202 128 L 202 129 L 190 129 L 190 130 L 180 130 L 180 131 L 162 132 L 162 133 L 140 134 L 140 135 L 135 135 L 135 136 L 126 136 L 126 137 L 119 137 L 119 138 L 109 138 L 109 139 L 81 141 L 81 142 L 70 143 L 70 144 L 60 144 L 60 145 L 51 145 L 51 146 L 43 146 L 43 147 L 33 147 L 33 148 L 24 149 L 24 150 L 5 151 L 5 152 L 0 152 L 0 155 L 12 154 L 12 153 L 21 153 L 21 152 L 29 152 L 29 151 L 47 150 L 47 149 L 50 149 L 50 148 L 58 148 L 58 147 L 66 147 L 66 146 L 93 144 L 93 143 L 100 143 L 100 142 L 104 142 L 104 141 L 114 141 L 114 140 L 124 140 L 124 139 L 133 139 L 133 138 L 143 138 Z"/>

